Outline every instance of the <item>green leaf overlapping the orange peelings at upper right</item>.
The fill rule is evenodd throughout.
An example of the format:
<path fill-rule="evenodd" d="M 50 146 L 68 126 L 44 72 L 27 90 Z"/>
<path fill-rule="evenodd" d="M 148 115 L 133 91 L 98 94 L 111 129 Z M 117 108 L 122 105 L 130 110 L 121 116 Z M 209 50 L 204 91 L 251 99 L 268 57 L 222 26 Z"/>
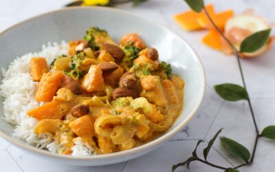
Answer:
<path fill-rule="evenodd" d="M 271 29 L 262 30 L 245 38 L 245 40 L 241 42 L 240 52 L 255 52 L 259 50 L 267 43 L 270 37 L 270 31 Z"/>

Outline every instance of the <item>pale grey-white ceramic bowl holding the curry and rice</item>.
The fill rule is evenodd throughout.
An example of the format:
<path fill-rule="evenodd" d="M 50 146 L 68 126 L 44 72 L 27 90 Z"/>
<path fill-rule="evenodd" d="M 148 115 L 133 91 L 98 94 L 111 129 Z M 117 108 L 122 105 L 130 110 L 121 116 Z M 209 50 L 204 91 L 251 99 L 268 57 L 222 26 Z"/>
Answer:
<path fill-rule="evenodd" d="M 0 34 L 0 68 L 8 67 L 17 56 L 41 50 L 41 45 L 58 41 L 69 41 L 82 38 L 90 26 L 98 26 L 118 39 L 131 32 L 136 32 L 150 47 L 156 47 L 160 60 L 173 66 L 173 72 L 184 78 L 185 98 L 184 110 L 179 118 L 161 137 L 127 151 L 94 155 L 91 157 L 75 157 L 58 155 L 49 151 L 36 149 L 22 140 L 12 137 L 13 127 L 0 118 L 0 136 L 11 144 L 39 155 L 41 158 L 59 163 L 80 166 L 98 166 L 114 164 L 137 158 L 159 147 L 182 129 L 195 115 L 203 99 L 205 75 L 199 57 L 184 39 L 170 30 L 155 23 L 136 17 L 133 14 L 113 8 L 66 8 L 42 14 L 12 26 Z M 1 78 L 0 78 L 1 80 Z M 3 98 L 0 97 L 0 116 L 3 116 Z"/>

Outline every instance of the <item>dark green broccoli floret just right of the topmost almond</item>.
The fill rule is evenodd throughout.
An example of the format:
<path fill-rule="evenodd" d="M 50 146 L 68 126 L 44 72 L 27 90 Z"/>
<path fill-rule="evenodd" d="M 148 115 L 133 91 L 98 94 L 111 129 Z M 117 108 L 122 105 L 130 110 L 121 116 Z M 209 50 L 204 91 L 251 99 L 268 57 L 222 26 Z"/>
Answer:
<path fill-rule="evenodd" d="M 124 69 L 129 69 L 133 66 L 133 60 L 138 57 L 138 53 L 141 51 L 139 47 L 135 47 L 133 45 L 125 45 L 122 46 L 122 50 L 124 51 L 124 57 L 122 58 L 122 67 Z"/>

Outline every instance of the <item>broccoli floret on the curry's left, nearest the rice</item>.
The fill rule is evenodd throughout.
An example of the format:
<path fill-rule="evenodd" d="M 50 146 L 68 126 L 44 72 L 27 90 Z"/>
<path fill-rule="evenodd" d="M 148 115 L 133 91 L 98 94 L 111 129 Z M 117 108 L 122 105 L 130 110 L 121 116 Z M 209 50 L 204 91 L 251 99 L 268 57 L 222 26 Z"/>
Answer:
<path fill-rule="evenodd" d="M 71 71 L 65 72 L 68 76 L 72 76 L 74 78 L 80 78 L 84 75 L 83 69 L 81 69 L 81 65 L 83 63 L 83 60 L 86 58 L 86 55 L 84 52 L 80 52 L 72 58 L 71 61 Z"/>

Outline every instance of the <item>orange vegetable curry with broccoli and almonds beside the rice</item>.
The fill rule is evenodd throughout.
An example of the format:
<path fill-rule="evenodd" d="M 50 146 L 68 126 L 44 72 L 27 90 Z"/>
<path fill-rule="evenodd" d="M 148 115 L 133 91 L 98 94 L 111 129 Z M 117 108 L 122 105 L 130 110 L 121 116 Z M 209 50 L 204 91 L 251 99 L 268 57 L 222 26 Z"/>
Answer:
<path fill-rule="evenodd" d="M 43 105 L 28 115 L 39 120 L 37 137 L 61 145 L 58 153 L 71 154 L 78 140 L 96 154 L 131 149 L 167 131 L 180 114 L 184 81 L 137 34 L 118 45 L 105 30 L 89 28 L 69 42 L 68 54 L 50 67 L 43 57 L 30 61 Z"/>

